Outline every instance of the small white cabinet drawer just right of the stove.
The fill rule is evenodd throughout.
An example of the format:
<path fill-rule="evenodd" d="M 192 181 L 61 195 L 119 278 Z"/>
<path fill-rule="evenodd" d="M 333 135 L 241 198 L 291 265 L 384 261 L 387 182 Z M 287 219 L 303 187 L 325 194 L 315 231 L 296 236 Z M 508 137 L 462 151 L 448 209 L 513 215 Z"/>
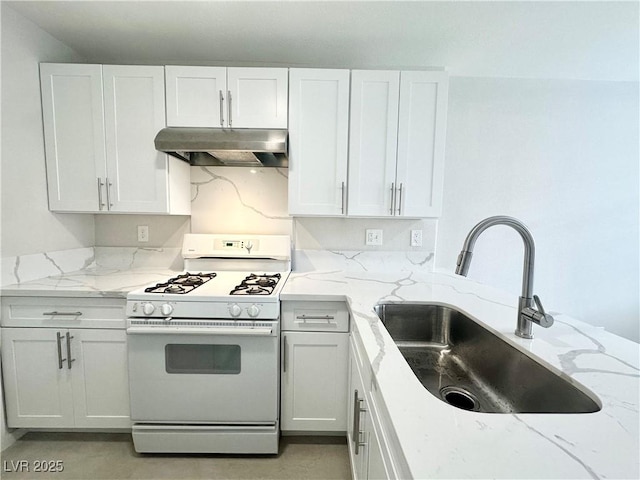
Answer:
<path fill-rule="evenodd" d="M 349 310 L 344 302 L 283 302 L 282 330 L 348 332 Z"/>

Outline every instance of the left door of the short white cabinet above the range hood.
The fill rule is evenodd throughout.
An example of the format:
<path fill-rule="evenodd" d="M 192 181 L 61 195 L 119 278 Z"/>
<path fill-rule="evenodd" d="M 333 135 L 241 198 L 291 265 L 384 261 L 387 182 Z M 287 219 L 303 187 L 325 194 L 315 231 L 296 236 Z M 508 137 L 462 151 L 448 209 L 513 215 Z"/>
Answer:
<path fill-rule="evenodd" d="M 222 128 L 225 125 L 225 67 L 167 65 L 165 78 L 168 126 Z"/>

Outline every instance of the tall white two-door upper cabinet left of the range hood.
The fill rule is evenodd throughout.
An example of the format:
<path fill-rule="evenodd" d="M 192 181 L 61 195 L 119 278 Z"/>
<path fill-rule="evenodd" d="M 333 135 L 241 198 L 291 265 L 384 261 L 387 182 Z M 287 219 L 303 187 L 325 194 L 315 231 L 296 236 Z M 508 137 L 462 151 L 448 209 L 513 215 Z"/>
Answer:
<path fill-rule="evenodd" d="M 158 152 L 164 67 L 41 64 L 49 208 L 190 213 L 189 166 Z"/>

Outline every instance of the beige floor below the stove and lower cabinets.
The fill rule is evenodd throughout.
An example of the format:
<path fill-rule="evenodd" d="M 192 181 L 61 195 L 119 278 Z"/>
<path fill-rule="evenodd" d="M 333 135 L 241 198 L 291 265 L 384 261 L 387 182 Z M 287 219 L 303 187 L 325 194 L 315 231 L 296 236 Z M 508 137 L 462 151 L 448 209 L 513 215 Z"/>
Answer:
<path fill-rule="evenodd" d="M 129 434 L 30 432 L 2 452 L 3 479 L 350 479 L 346 440 L 282 437 L 278 455 L 139 454 Z M 36 473 L 53 460 L 58 473 Z M 22 461 L 22 462 L 21 462 Z M 30 471 L 19 470 L 20 466 Z"/>

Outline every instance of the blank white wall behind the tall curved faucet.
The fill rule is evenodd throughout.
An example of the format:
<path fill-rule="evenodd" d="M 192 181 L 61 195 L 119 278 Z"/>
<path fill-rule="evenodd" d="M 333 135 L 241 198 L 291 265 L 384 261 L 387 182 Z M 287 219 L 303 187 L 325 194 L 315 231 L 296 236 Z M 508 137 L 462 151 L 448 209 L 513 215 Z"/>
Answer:
<path fill-rule="evenodd" d="M 436 266 L 469 229 L 521 219 L 549 310 L 639 340 L 638 83 L 452 78 Z M 469 277 L 520 294 L 522 241 L 496 226 Z M 553 328 L 553 327 L 552 327 Z"/>

